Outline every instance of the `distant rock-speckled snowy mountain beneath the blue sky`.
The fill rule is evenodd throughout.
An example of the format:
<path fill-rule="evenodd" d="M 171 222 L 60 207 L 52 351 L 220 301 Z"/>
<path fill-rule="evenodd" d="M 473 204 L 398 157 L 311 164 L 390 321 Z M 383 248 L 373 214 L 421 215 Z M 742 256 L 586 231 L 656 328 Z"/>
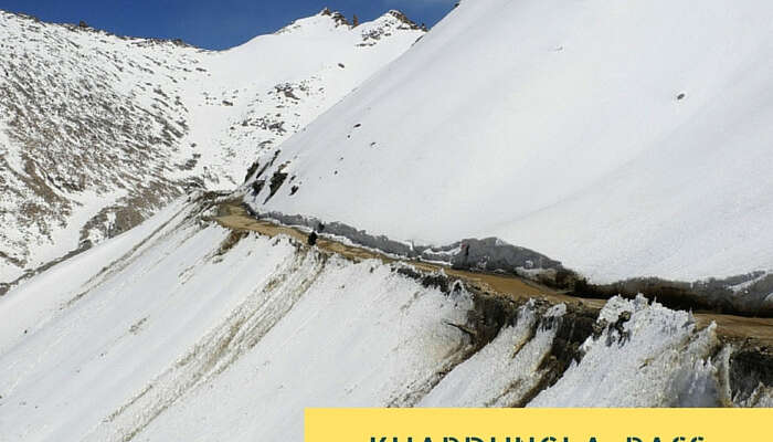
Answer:
<path fill-rule="evenodd" d="M 0 11 L 0 283 L 184 188 L 237 186 L 422 34 L 394 13 L 351 28 L 324 11 L 207 52 Z"/>

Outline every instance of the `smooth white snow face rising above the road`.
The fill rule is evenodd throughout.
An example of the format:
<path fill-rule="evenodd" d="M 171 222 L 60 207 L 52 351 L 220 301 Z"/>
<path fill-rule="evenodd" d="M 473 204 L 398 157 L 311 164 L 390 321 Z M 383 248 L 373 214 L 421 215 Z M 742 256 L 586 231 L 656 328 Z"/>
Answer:
<path fill-rule="evenodd" d="M 772 23 L 764 1 L 464 1 L 284 145 L 295 194 L 247 201 L 497 235 L 599 282 L 770 270 Z"/>

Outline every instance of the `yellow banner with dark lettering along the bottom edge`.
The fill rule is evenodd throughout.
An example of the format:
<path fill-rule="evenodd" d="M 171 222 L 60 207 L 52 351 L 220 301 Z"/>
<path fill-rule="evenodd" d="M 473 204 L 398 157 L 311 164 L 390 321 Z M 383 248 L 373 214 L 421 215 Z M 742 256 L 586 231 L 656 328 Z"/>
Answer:
<path fill-rule="evenodd" d="M 307 409 L 306 442 L 770 442 L 773 409 Z"/>

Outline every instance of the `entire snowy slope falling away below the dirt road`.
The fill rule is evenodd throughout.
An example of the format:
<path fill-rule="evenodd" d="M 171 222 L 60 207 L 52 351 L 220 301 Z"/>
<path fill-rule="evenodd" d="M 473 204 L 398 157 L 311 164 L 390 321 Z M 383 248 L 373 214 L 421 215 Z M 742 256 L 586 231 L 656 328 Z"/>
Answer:
<path fill-rule="evenodd" d="M 773 400 L 770 349 L 687 312 L 443 288 L 215 214 L 179 200 L 0 297 L 0 439 L 300 441 L 305 407 Z"/>

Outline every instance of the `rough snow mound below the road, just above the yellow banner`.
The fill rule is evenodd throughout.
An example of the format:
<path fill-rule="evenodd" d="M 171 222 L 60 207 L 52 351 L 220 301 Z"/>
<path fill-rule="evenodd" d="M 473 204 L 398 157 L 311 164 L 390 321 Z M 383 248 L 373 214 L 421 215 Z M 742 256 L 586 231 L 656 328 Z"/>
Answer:
<path fill-rule="evenodd" d="M 714 326 L 697 332 L 690 313 L 669 311 L 643 296 L 615 297 L 600 319 L 614 324 L 629 312 L 622 333 L 607 328 L 583 345 L 573 364 L 530 407 L 717 407 L 728 387 L 710 360 L 719 343 Z M 726 401 L 726 402 L 721 402 Z"/>

